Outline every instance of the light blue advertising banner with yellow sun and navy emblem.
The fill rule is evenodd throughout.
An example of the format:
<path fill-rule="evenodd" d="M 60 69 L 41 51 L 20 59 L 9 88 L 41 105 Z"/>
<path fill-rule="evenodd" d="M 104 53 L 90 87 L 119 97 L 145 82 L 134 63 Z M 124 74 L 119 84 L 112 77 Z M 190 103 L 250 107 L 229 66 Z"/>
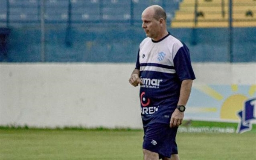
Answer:
<path fill-rule="evenodd" d="M 237 133 L 256 122 L 256 85 L 193 84 L 185 119 L 237 122 Z"/>

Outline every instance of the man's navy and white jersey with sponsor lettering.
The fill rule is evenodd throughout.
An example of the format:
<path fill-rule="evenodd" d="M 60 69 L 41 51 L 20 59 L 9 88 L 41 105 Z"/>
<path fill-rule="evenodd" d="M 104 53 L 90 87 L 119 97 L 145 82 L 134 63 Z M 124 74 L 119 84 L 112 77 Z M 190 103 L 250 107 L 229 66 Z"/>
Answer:
<path fill-rule="evenodd" d="M 170 33 L 159 41 L 145 38 L 135 68 L 140 70 L 143 81 L 140 85 L 143 124 L 152 120 L 169 123 L 177 106 L 181 82 L 195 79 L 189 49 Z"/>

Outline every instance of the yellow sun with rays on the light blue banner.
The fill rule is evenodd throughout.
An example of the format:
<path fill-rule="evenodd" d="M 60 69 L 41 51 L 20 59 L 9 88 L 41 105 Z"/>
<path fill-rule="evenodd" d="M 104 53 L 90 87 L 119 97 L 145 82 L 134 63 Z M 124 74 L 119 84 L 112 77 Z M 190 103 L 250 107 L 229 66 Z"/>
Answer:
<path fill-rule="evenodd" d="M 216 91 L 214 86 L 209 87 L 208 85 L 196 85 L 195 89 L 200 90 L 205 95 L 212 97 L 213 99 L 221 102 L 220 106 L 220 118 L 228 120 L 239 120 L 237 113 L 241 111 L 244 107 L 244 102 L 255 96 L 256 85 L 251 85 L 249 89 L 246 90 L 247 93 L 238 93 L 239 87 L 236 84 L 231 85 L 231 93 L 226 93 L 227 90 L 224 90 L 225 86 L 220 87 L 221 91 Z M 216 86 L 215 86 L 216 87 Z M 202 108 L 201 108 L 202 109 Z M 204 108 L 206 110 L 207 108 Z M 209 110 L 210 108 L 208 108 Z M 213 111 L 213 110 L 212 110 Z"/>

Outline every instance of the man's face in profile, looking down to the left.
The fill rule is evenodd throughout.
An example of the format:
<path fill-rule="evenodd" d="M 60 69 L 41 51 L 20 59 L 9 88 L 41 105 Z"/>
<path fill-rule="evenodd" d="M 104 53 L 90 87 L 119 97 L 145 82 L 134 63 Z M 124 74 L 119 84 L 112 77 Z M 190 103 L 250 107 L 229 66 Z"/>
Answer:
<path fill-rule="evenodd" d="M 146 36 L 154 40 L 160 30 L 160 22 L 154 18 L 153 9 L 145 9 L 141 15 L 142 28 L 144 29 Z"/>

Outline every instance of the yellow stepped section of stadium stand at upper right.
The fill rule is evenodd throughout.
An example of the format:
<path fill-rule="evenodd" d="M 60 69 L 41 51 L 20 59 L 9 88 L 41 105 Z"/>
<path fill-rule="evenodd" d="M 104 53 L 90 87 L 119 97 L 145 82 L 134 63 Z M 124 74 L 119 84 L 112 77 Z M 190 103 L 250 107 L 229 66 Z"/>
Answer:
<path fill-rule="evenodd" d="M 175 13 L 171 26 L 228 27 L 229 0 L 183 0 Z M 256 1 L 233 0 L 233 26 L 256 26 Z"/>

